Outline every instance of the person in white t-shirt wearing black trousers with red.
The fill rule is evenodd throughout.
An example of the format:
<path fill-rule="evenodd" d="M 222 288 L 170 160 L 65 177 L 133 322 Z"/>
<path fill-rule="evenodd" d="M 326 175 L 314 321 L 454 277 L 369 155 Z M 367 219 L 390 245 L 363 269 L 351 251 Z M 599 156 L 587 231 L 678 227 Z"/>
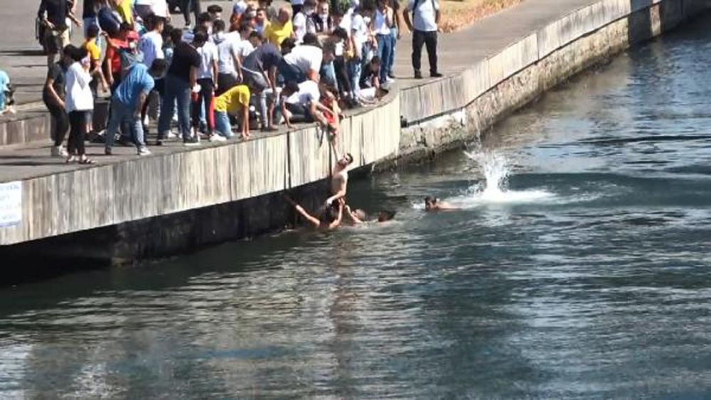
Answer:
<path fill-rule="evenodd" d="M 198 50 L 201 58 L 197 76 L 197 86 L 200 87 L 200 90 L 197 92 L 197 99 L 193 101 L 192 121 L 193 128 L 198 129 L 201 125 L 201 115 L 204 115 L 206 120 L 205 130 L 208 136 L 212 136 L 215 131 L 215 116 L 212 107 L 214 107 L 213 97 L 215 97 L 215 89 L 217 88 L 218 48 L 208 40 L 208 37 L 205 28 L 196 28 L 193 47 Z M 195 89 L 193 88 L 193 91 Z"/>

